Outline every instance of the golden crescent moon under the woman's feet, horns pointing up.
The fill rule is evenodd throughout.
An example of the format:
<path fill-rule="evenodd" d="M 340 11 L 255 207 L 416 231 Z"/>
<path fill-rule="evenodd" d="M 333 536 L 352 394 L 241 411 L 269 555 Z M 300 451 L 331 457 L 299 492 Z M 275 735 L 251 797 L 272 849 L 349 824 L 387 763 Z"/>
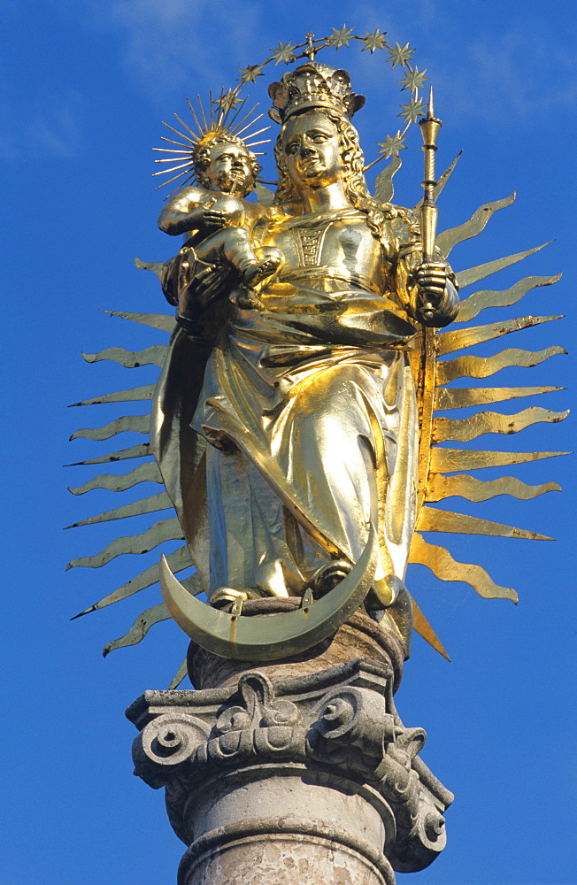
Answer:
<path fill-rule="evenodd" d="M 372 526 L 358 562 L 334 589 L 293 612 L 266 618 L 235 617 L 199 602 L 174 577 L 164 556 L 160 587 L 173 619 L 203 649 L 221 658 L 277 660 L 306 651 L 335 633 L 365 599 L 376 565 L 376 531 Z"/>

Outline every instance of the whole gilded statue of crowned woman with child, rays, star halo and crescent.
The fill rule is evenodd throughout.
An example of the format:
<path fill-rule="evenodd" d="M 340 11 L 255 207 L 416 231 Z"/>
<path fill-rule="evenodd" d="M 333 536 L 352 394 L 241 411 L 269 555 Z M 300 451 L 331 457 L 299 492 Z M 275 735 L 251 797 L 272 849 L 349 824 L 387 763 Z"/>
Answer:
<path fill-rule="evenodd" d="M 324 45 L 338 48 L 330 39 Z M 435 422 L 435 409 L 524 395 L 524 389 L 502 389 L 500 395 L 499 389 L 442 387 L 465 374 L 485 377 L 512 365 L 504 354 L 449 362 L 436 357 L 535 319 L 515 321 L 511 328 L 501 323 L 493 329 L 438 330 L 456 318 L 473 319 L 491 304 L 519 300 L 531 288 L 527 281 L 512 287 L 514 292 L 476 293 L 458 314 L 458 283 L 478 281 L 529 252 L 457 276 L 452 272 L 443 251 L 479 233 L 490 214 L 512 200 L 487 204 L 481 219 L 475 213 L 467 225 L 436 237 L 435 245 L 435 194 L 454 164 L 437 183 L 434 152 L 441 122 L 432 95 L 425 115 L 418 99 L 424 72 L 408 64 L 410 57 L 396 58 L 411 51 L 398 44 L 389 52 L 408 67 L 407 119 L 423 118 L 425 198 L 415 210 L 390 202 L 392 172 L 404 146 L 400 133 L 383 144 L 381 153 L 392 156 L 393 168 L 381 173 L 379 196 L 371 195 L 351 123 L 365 100 L 352 92 L 346 71 L 315 59 L 321 42 L 309 35 L 300 56 L 308 60 L 269 87 L 270 115 L 281 125 L 273 198 L 258 188 L 258 161 L 240 137 L 240 124 L 227 125 L 222 112 L 227 102 L 227 112 L 234 109 L 237 91 L 221 93 L 219 102 L 211 96 L 210 121 L 201 105 L 204 125 L 190 105 L 198 134 L 181 121 L 192 138 L 179 133 L 186 141 L 177 160 L 186 160 L 185 172 L 192 168 L 198 186 L 171 195 L 158 223 L 168 234 L 185 234 L 187 242 L 165 265 L 137 262 L 158 273 L 177 309 L 178 328 L 163 354 L 150 422 L 150 451 L 160 471 L 155 481 L 164 482 L 166 493 L 153 496 L 161 501 L 151 503 L 150 511 L 135 512 L 173 505 L 178 516 L 173 534 L 158 529 L 156 535 L 184 536 L 186 549 L 178 557 L 171 554 L 161 568 L 165 604 L 209 650 L 248 659 L 286 656 L 334 632 L 364 602 L 407 655 L 413 619 L 419 633 L 444 653 L 405 587 L 408 562 L 427 564 L 444 580 L 467 580 L 483 596 L 514 598 L 514 591 L 497 587 L 480 566 L 461 566 L 415 529 L 541 536 L 424 506 L 449 495 L 490 496 L 483 497 L 481 487 L 491 483 L 443 477 L 443 470 L 529 459 L 433 448 L 445 440 L 511 432 L 500 429 L 503 416 L 496 413 L 473 416 L 484 420 L 475 432 L 465 426 L 472 419 Z M 367 47 L 373 52 L 384 43 Z M 296 58 L 293 51 L 290 60 Z M 246 70 L 254 73 L 255 67 Z M 216 122 L 214 104 L 221 109 Z M 266 202 L 246 199 L 255 187 Z M 533 285 L 555 281 L 528 279 L 540 280 Z M 503 295 L 509 300 L 491 301 Z M 138 321 L 170 327 L 168 321 Z M 541 358 L 561 350 L 550 349 Z M 515 365 L 535 365 L 522 360 Z M 542 413 L 535 420 L 564 417 L 526 410 L 532 411 Z M 514 419 L 515 430 L 531 422 L 525 412 Z M 531 496 L 519 481 L 503 482 L 506 493 Z M 555 484 L 535 487 L 535 494 L 552 488 Z M 184 567 L 187 552 L 196 574 L 182 587 L 170 566 Z M 133 587 L 125 585 L 87 611 L 158 580 L 156 573 L 149 581 L 147 571 L 146 579 L 143 573 Z M 210 605 L 198 603 L 190 591 L 204 591 Z M 295 612 L 242 619 L 242 601 L 255 596 L 300 596 L 303 603 Z M 231 612 L 220 611 L 231 603 Z M 168 615 L 165 604 L 149 610 L 150 623 Z M 138 641 L 131 635 L 110 647 Z"/>

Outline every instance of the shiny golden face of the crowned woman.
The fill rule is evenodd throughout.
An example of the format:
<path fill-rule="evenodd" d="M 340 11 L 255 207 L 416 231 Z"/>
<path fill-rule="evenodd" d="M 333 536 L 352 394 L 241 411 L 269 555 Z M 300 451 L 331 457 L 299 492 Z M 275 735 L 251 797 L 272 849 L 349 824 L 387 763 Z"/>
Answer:
<path fill-rule="evenodd" d="M 298 189 L 324 188 L 342 179 L 338 130 L 324 113 L 309 111 L 289 119 L 283 149 L 289 176 Z"/>

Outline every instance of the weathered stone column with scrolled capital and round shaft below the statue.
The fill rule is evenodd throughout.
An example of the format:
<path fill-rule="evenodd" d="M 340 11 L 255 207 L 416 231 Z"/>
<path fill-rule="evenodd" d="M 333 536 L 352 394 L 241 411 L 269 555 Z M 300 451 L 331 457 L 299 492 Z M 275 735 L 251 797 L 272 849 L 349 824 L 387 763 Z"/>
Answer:
<path fill-rule="evenodd" d="M 127 711 L 135 773 L 165 786 L 188 845 L 181 885 L 392 885 L 393 869 L 430 864 L 452 796 L 419 759 L 425 732 L 398 717 L 393 666 L 357 658 L 274 683 L 263 669 Z"/>

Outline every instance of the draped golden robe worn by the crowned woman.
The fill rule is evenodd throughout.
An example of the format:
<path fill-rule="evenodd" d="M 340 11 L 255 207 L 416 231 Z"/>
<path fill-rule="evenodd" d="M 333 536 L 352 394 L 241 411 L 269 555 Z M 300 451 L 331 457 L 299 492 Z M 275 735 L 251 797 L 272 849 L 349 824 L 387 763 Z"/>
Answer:
<path fill-rule="evenodd" d="M 378 529 L 375 581 L 404 578 L 414 528 L 418 416 L 414 221 L 380 239 L 354 209 L 264 221 L 280 248 L 263 310 L 231 303 L 210 345 L 181 330 L 151 441 L 204 588 L 294 592 Z M 439 307 L 450 312 L 452 287 Z M 442 325 L 439 322 L 439 325 Z"/>

